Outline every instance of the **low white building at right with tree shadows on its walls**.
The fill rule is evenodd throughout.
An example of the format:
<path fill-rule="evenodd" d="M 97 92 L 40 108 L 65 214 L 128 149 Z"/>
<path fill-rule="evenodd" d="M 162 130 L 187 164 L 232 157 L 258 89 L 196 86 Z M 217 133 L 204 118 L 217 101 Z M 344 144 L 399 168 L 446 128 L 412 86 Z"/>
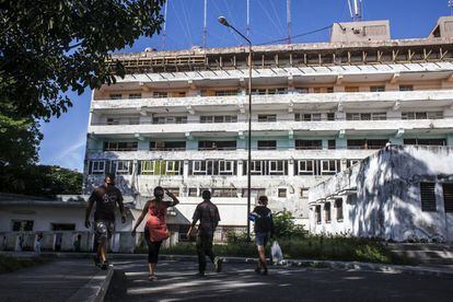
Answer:
<path fill-rule="evenodd" d="M 312 187 L 310 231 L 453 242 L 453 148 L 391 146 Z"/>

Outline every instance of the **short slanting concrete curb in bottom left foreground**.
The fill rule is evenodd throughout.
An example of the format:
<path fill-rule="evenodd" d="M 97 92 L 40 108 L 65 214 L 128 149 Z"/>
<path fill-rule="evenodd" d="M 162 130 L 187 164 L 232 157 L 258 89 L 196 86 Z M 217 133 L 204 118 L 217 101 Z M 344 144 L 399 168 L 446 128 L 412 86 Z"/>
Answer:
<path fill-rule="evenodd" d="M 91 278 L 91 280 L 81 289 L 79 289 L 68 302 L 102 302 L 114 274 L 113 266 L 107 270 L 101 270 Z"/>

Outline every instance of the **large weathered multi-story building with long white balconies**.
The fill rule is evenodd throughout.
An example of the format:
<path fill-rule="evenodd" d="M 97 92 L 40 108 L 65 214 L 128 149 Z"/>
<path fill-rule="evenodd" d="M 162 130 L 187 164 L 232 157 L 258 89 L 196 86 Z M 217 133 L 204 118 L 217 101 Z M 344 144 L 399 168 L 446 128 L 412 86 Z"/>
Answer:
<path fill-rule="evenodd" d="M 336 23 L 329 43 L 253 47 L 253 197 L 304 222 L 310 187 L 388 141 L 453 146 L 452 37 L 452 18 L 417 39 L 376 21 Z M 93 93 L 85 190 L 106 172 L 129 195 L 162 185 L 190 220 L 209 188 L 221 225 L 244 226 L 247 48 L 113 59 L 128 74 Z"/>

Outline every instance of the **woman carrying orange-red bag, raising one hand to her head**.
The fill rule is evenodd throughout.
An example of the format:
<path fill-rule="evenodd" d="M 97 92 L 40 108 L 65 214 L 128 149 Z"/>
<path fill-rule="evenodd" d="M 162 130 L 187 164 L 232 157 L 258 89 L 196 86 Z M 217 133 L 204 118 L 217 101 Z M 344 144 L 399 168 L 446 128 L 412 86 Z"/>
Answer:
<path fill-rule="evenodd" d="M 167 194 L 173 201 L 163 201 L 164 194 Z M 143 221 L 147 213 L 149 213 L 147 224 L 144 225 L 144 240 L 148 244 L 148 268 L 149 268 L 149 280 L 156 280 L 154 270 L 158 264 L 159 251 L 162 242 L 170 236 L 169 229 L 166 226 L 166 209 L 174 207 L 179 204 L 176 196 L 160 186 L 154 188 L 154 199 L 148 200 L 143 207 L 139 219 L 132 230 L 132 235 L 136 235 L 138 225 Z"/>

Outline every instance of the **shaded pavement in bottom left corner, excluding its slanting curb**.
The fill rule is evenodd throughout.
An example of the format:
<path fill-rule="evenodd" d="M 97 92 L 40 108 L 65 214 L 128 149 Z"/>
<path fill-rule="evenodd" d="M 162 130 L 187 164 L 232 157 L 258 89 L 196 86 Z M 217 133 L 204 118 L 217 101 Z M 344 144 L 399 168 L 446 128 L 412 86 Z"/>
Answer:
<path fill-rule="evenodd" d="M 0 301 L 66 301 L 100 269 L 90 259 L 55 260 L 0 275 Z"/>

